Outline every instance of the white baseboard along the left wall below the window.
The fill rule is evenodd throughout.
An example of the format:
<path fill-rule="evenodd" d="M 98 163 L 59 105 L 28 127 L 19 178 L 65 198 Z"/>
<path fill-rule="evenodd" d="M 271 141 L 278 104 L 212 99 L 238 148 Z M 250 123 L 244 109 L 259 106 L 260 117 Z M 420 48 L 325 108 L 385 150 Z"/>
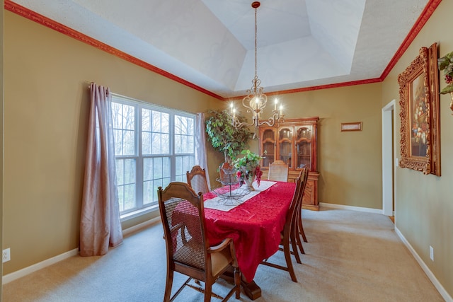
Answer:
<path fill-rule="evenodd" d="M 160 221 L 160 216 L 157 216 L 154 219 L 149 219 L 148 221 L 144 221 L 143 223 L 137 224 L 137 226 L 132 226 L 130 228 L 126 228 L 125 230 L 122 231 L 122 236 L 128 236 L 131 233 L 134 233 L 136 231 L 141 230 L 142 228 L 146 228 L 148 226 L 153 225 L 154 223 L 157 223 Z M 33 272 L 36 272 L 40 269 L 43 269 L 45 267 L 48 267 L 50 265 L 53 265 L 57 262 L 60 262 L 62 260 L 65 260 L 69 257 L 73 257 L 79 254 L 79 248 L 74 248 L 74 250 L 69 250 L 68 252 L 64 252 L 60 255 L 57 255 L 55 257 L 49 258 L 47 260 L 41 261 L 36 263 L 35 265 L 30 265 L 29 267 L 24 267 L 23 269 L 19 269 L 16 272 L 12 272 L 11 274 L 6 274 L 1 278 L 1 283 L 2 284 L 7 284 L 11 281 L 14 281 L 16 279 L 19 279 L 21 277 L 25 277 L 28 274 L 31 274 Z"/>

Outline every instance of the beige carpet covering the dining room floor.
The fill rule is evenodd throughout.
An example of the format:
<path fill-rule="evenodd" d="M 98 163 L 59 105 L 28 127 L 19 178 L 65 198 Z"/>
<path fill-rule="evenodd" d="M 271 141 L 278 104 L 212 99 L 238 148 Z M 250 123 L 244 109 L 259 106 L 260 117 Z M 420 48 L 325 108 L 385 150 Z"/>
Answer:
<path fill-rule="evenodd" d="M 294 261 L 299 282 L 262 265 L 255 280 L 263 294 L 256 301 L 444 301 L 387 216 L 323 208 L 303 210 L 303 217 L 309 243 L 302 265 Z M 71 257 L 12 281 L 3 301 L 162 301 L 162 233 L 156 224 L 103 257 Z M 282 252 L 273 261 L 285 263 Z M 183 279 L 177 275 L 173 288 Z M 223 281 L 214 291 L 224 294 L 228 286 Z M 185 289 L 176 301 L 202 301 L 202 294 Z M 242 293 L 241 301 L 250 300 Z"/>

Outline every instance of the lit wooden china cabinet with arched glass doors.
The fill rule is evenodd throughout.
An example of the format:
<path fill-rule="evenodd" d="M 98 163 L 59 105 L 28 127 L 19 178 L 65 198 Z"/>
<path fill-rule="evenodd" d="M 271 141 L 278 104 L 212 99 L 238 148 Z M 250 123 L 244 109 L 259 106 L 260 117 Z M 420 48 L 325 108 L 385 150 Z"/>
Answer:
<path fill-rule="evenodd" d="M 260 127 L 259 153 L 263 156 L 262 179 L 268 178 L 270 163 L 281 160 L 289 168 L 288 181 L 294 182 L 300 170 L 309 167 L 309 180 L 306 183 L 302 207 L 319 210 L 317 129 L 319 117 L 285 120 L 277 127 Z"/>

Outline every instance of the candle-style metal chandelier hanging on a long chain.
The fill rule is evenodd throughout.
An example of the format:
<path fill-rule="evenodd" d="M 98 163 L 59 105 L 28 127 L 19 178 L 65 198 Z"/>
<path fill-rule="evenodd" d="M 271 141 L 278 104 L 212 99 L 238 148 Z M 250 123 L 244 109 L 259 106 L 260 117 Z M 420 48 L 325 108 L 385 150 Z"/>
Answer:
<path fill-rule="evenodd" d="M 257 36 L 257 25 L 256 25 L 256 11 L 257 8 L 260 6 L 260 2 L 255 1 L 252 3 L 252 7 L 255 8 L 255 78 L 252 80 L 252 87 L 247 90 L 246 97 L 242 99 L 243 107 L 247 108 L 247 112 L 252 114 L 252 122 L 249 124 L 247 122 L 240 122 L 239 118 L 236 116 L 236 108 L 234 108 L 234 104 L 231 103 L 230 105 L 230 115 L 231 115 L 231 124 L 236 129 L 241 129 L 242 127 L 255 127 L 255 135 L 258 130 L 258 127 L 263 125 L 268 125 L 269 127 L 273 127 L 274 124 L 283 120 L 282 115 L 282 105 L 277 109 L 278 100 L 275 98 L 274 102 L 274 110 L 273 115 L 269 117 L 267 120 L 260 120 L 261 113 L 263 109 L 266 107 L 268 103 L 268 97 L 263 93 L 263 87 L 260 86 L 260 79 L 258 79 L 257 72 L 256 72 L 256 36 Z"/>

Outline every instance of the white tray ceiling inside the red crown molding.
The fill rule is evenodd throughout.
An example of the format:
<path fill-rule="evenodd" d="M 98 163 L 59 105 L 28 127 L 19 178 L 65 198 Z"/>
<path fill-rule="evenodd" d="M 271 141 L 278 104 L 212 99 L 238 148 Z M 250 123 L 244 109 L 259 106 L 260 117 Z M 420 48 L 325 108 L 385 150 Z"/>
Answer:
<path fill-rule="evenodd" d="M 255 76 L 244 0 L 14 0 L 222 98 Z M 379 78 L 428 0 L 262 0 L 265 93 Z"/>

